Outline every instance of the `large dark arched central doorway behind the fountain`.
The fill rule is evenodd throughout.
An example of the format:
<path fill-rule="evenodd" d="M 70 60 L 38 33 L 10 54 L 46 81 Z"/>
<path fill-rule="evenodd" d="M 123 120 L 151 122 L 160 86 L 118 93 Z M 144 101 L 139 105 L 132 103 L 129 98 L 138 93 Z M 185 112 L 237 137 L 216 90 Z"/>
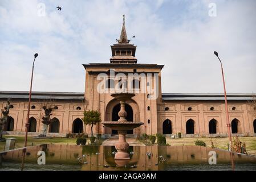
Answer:
<path fill-rule="evenodd" d="M 118 121 L 119 116 L 118 112 L 120 111 L 121 106 L 120 104 L 117 104 L 115 107 L 113 107 L 112 111 L 112 121 Z M 125 111 L 127 112 L 127 121 L 133 121 L 133 111 L 132 107 L 129 104 L 125 104 Z M 117 130 L 112 130 L 112 134 L 117 134 Z M 127 134 L 133 134 L 133 130 L 128 130 Z"/>

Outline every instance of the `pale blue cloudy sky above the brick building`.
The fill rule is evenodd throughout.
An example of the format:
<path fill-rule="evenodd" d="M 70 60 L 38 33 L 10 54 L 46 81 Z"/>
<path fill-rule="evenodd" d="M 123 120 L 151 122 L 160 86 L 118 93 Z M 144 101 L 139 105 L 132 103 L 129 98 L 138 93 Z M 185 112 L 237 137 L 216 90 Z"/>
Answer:
<path fill-rule="evenodd" d="M 138 63 L 165 65 L 162 92 L 223 93 L 218 51 L 227 92 L 255 93 L 255 9 L 254 0 L 0 0 L 0 90 L 29 90 L 38 52 L 32 90 L 84 92 L 82 64 L 109 63 L 125 14 Z"/>

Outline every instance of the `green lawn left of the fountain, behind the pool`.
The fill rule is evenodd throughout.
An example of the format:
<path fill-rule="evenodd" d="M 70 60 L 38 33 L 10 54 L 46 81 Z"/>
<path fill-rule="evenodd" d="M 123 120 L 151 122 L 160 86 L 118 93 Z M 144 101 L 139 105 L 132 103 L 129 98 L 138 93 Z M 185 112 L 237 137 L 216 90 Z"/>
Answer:
<path fill-rule="evenodd" d="M 5 138 L 14 137 L 16 138 L 15 142 L 15 148 L 21 148 L 24 147 L 24 136 L 13 136 L 13 135 L 5 135 Z M 36 146 L 39 144 L 76 144 L 76 138 L 60 138 L 60 137 L 54 137 L 49 139 L 36 139 L 33 137 L 27 137 L 27 146 Z M 3 151 L 5 147 L 5 142 L 0 142 L 0 151 Z"/>

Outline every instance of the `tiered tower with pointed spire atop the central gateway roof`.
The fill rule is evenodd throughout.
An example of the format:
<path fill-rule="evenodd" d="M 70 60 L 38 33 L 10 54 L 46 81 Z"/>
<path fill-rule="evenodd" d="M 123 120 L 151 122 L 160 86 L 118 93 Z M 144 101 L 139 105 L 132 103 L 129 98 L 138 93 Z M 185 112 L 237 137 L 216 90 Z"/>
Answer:
<path fill-rule="evenodd" d="M 117 40 L 118 44 L 113 44 L 113 46 L 111 46 L 112 57 L 110 58 L 110 63 L 137 63 L 137 59 L 135 57 L 136 46 L 134 46 L 133 44 L 129 44 L 130 41 L 131 40 L 127 39 L 127 34 L 125 30 L 125 19 L 123 18 L 123 27 L 121 30 L 120 39 Z"/>

